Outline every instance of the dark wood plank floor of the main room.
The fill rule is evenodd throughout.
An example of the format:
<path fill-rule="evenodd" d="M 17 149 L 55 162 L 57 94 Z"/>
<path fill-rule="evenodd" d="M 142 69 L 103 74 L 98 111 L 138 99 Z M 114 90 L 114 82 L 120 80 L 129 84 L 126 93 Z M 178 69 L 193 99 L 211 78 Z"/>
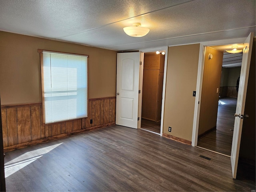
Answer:
<path fill-rule="evenodd" d="M 5 173 L 7 191 L 255 190 L 227 156 L 117 125 L 7 152 Z"/>

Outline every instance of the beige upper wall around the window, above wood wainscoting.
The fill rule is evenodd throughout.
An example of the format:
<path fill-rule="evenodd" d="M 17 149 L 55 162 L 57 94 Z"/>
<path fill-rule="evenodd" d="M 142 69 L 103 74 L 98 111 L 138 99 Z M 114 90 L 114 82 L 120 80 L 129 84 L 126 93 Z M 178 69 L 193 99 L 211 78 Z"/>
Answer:
<path fill-rule="evenodd" d="M 88 98 L 116 95 L 116 51 L 0 31 L 2 105 L 42 101 L 37 49 L 88 54 Z"/>

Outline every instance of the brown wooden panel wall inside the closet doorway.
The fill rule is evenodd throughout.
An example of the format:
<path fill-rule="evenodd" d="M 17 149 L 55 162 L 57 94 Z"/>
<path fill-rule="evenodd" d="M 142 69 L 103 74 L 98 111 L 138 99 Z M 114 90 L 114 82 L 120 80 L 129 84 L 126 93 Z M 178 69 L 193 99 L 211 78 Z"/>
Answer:
<path fill-rule="evenodd" d="M 164 55 L 144 54 L 142 118 L 159 122 L 162 110 Z"/>

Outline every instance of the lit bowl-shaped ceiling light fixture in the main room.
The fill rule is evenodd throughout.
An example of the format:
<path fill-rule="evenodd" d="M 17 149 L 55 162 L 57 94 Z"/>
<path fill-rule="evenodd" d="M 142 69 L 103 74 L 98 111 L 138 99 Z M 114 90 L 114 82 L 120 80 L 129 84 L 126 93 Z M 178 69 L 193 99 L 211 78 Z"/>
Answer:
<path fill-rule="evenodd" d="M 134 23 L 130 27 L 124 27 L 124 32 L 132 37 L 143 37 L 148 34 L 149 29 L 142 27 L 140 23 Z"/>

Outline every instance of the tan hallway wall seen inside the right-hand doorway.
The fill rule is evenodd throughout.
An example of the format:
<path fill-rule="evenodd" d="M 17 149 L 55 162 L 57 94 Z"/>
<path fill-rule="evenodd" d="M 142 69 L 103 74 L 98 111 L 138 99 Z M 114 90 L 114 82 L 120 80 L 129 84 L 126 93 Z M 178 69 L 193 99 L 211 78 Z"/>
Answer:
<path fill-rule="evenodd" d="M 212 59 L 208 55 L 212 54 Z M 223 52 L 206 47 L 198 135 L 216 128 Z M 217 93 L 218 88 L 218 93 Z"/>

